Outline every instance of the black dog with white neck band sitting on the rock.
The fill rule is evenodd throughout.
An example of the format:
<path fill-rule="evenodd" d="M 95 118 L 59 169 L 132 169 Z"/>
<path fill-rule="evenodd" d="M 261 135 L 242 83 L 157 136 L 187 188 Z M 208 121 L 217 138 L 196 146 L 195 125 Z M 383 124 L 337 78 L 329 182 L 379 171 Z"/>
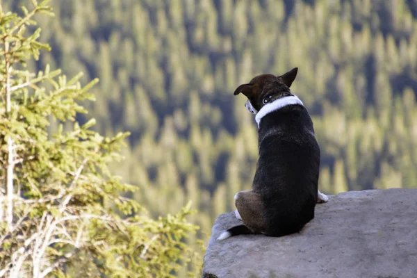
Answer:
<path fill-rule="evenodd" d="M 281 76 L 262 74 L 240 85 L 245 106 L 256 114 L 259 160 L 252 190 L 235 195 L 236 218 L 242 225 L 224 231 L 218 240 L 238 234 L 285 236 L 300 231 L 314 218 L 318 202 L 320 147 L 313 122 L 290 87 L 297 68 Z"/>

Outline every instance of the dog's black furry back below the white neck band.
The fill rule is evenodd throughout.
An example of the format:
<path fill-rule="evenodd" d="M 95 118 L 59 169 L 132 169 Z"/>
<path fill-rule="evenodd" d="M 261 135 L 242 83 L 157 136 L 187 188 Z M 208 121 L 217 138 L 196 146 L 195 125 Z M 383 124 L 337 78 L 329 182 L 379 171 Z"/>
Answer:
<path fill-rule="evenodd" d="M 320 148 L 306 108 L 286 106 L 263 118 L 253 190 L 263 203 L 264 234 L 293 234 L 314 218 L 319 167 Z"/>

